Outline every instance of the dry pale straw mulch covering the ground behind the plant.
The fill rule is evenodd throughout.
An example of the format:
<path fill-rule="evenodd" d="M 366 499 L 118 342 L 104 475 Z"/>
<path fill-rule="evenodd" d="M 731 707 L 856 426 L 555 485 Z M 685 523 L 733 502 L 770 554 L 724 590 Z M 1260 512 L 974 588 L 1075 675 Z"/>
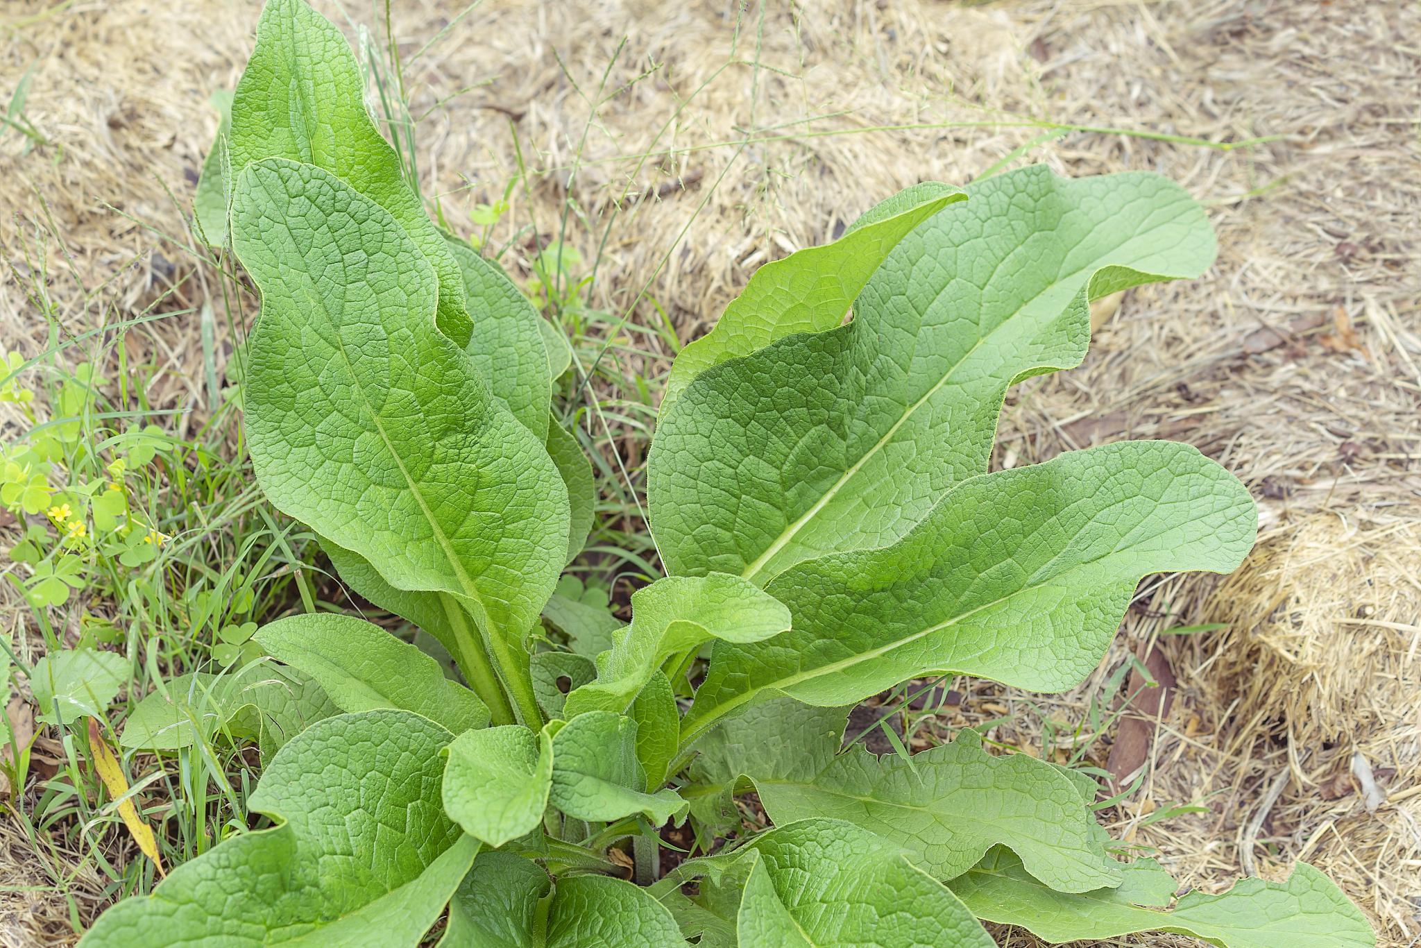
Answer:
<path fill-rule="evenodd" d="M 645 289 L 635 316 L 654 300 L 682 340 L 759 263 L 831 237 L 897 188 L 971 181 L 1036 141 L 1025 117 L 1269 138 L 1219 151 L 1070 132 L 1027 153 L 1074 175 L 1178 179 L 1211 209 L 1221 254 L 1201 280 L 1103 308 L 1083 368 L 1012 395 L 995 462 L 1177 438 L 1236 470 L 1262 510 L 1239 573 L 1147 584 L 1097 677 L 1030 706 L 1073 722 L 1128 652 L 1158 644 L 1174 701 L 1145 722 L 1145 782 L 1110 813 L 1113 831 L 1205 888 L 1243 871 L 1277 878 L 1306 857 L 1383 944 L 1421 935 L 1415 3 L 826 0 L 770 4 L 763 28 L 752 9 L 736 41 L 732 0 L 486 0 L 421 53 L 463 6 L 396 4 L 412 111 L 432 109 L 419 125 L 426 190 L 459 226 L 516 176 L 516 129 L 527 165 L 547 173 L 514 189 L 509 217 L 531 216 L 546 240 L 571 195 L 597 223 L 571 230 L 590 257 L 615 209 L 591 303 L 622 313 Z M 142 225 L 180 233 L 169 190 L 190 196 L 216 126 L 205 102 L 233 84 L 256 13 L 216 0 L 7 4 L 0 95 L 34 64 L 26 114 L 53 144 L 0 136 L 0 206 L 16 216 L 0 242 L 14 260 L 37 226 L 64 236 L 68 259 L 51 253 L 67 317 L 131 314 L 190 273 Z M 514 239 L 506 262 L 526 273 L 533 235 L 496 239 Z M 108 303 L 85 306 L 75 279 L 91 293 L 111 281 Z M 189 281 L 172 306 L 200 300 Z M 13 283 L 0 286 L 0 331 L 11 347 L 44 337 Z M 142 331 L 168 365 L 158 406 L 200 406 L 198 335 L 196 317 Z M 1161 635 L 1198 623 L 1228 628 Z M 1020 723 L 995 738 L 1039 746 L 1027 696 L 965 688 L 965 718 L 1002 706 Z M 1208 812 L 1147 819 L 1191 802 Z M 43 881 L 9 864 L 18 849 L 0 850 L 4 881 Z M 20 944 L 67 922 L 63 904 L 31 901 L 0 927 Z"/>

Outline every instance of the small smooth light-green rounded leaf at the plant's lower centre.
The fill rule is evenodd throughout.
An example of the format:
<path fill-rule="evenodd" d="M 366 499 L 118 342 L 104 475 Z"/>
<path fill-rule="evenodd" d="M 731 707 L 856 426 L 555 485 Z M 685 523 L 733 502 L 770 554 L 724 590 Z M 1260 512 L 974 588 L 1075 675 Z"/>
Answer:
<path fill-rule="evenodd" d="M 523 725 L 466 731 L 446 749 L 443 804 L 469 836 L 503 846 L 531 833 L 547 810 L 553 740 Z"/>

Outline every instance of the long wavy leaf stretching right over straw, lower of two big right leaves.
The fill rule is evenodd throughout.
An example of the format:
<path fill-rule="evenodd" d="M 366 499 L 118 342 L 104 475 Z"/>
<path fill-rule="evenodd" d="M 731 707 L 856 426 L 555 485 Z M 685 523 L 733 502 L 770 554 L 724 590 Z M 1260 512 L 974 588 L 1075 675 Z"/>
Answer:
<path fill-rule="evenodd" d="M 1238 479 L 1167 441 L 972 478 L 898 543 L 770 583 L 794 628 L 716 642 L 682 733 L 766 692 L 837 706 L 929 672 L 1064 691 L 1100 661 L 1141 577 L 1228 573 L 1256 529 Z"/>

